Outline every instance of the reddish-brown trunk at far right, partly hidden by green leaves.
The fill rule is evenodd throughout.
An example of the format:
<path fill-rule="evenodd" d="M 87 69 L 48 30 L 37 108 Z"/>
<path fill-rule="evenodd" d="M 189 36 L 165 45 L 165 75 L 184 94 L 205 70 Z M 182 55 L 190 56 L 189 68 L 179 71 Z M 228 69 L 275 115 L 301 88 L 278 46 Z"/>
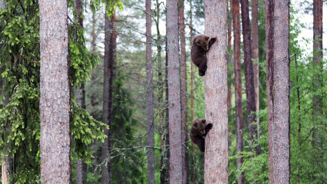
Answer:
<path fill-rule="evenodd" d="M 322 0 L 313 1 L 313 64 L 315 68 L 321 66 L 322 59 Z M 317 67 L 318 66 L 318 67 Z M 318 74 L 315 75 L 315 88 L 322 86 L 322 80 Z M 322 114 L 322 98 L 320 95 L 313 97 L 313 119 L 318 124 L 321 124 L 319 116 Z M 312 133 L 314 146 L 321 146 L 320 136 L 314 130 Z"/>

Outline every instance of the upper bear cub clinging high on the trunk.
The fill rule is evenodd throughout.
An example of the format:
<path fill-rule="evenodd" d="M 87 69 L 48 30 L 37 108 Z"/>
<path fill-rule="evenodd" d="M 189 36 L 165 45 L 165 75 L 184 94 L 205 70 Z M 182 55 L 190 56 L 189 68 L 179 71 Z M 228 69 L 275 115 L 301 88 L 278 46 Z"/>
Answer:
<path fill-rule="evenodd" d="M 217 38 L 211 38 L 206 35 L 198 35 L 192 41 L 191 59 L 192 62 L 199 67 L 199 76 L 204 76 L 207 70 L 206 51 L 210 49 Z"/>

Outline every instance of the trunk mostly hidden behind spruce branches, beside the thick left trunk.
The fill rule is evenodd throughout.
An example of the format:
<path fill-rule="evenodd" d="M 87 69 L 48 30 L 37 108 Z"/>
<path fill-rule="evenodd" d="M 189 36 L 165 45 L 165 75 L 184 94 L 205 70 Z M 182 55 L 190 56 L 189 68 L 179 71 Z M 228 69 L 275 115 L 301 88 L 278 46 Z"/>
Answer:
<path fill-rule="evenodd" d="M 79 24 L 79 28 L 83 29 L 83 7 L 81 0 L 75 0 L 75 7 L 77 11 L 77 22 Z M 85 106 L 85 89 L 84 83 L 81 84 L 79 89 L 75 90 L 76 94 L 76 102 L 77 104 L 82 107 L 83 109 L 86 108 Z M 77 159 L 76 163 L 76 183 L 77 184 L 86 184 L 87 173 L 86 173 L 87 165 L 83 161 Z"/>

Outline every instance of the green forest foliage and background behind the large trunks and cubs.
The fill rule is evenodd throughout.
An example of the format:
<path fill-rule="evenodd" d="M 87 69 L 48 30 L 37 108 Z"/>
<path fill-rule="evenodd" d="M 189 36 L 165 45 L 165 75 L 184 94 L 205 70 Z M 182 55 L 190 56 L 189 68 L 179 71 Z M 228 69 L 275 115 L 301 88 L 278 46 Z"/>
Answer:
<path fill-rule="evenodd" d="M 227 39 L 228 44 L 228 183 L 268 184 L 266 85 L 268 66 L 265 1 L 256 1 L 257 58 L 252 57 L 251 62 L 253 70 L 255 67 L 258 68 L 257 74 L 254 72 L 254 78 L 257 76 L 254 87 L 258 90 L 256 107 L 259 108 L 250 113 L 247 113 L 244 36 L 240 7 L 239 17 L 236 17 L 239 18 L 241 25 L 239 43 L 241 88 L 239 90 L 242 92 L 242 111 L 238 111 L 242 113 L 243 119 L 241 141 L 244 148 L 241 152 L 236 150 L 237 112 L 233 52 L 235 27 L 232 1 L 236 0 L 227 0 L 226 7 L 227 38 L 218 38 Z M 41 59 L 38 2 L 37 0 L 2 0 L 2 4 L 0 3 L 0 10 L 2 10 L 0 11 L 0 97 L 2 100 L 0 102 L 0 153 L 3 164 L 2 175 L 9 173 L 9 183 L 41 183 L 39 110 Z M 154 160 L 152 160 L 154 183 L 169 183 L 167 118 L 169 94 L 167 94 L 166 77 L 168 63 L 166 14 L 169 12 L 166 11 L 166 1 L 151 0 L 150 2 L 151 9 L 148 15 L 152 23 L 151 35 L 147 39 L 146 2 L 143 0 L 68 1 L 69 75 L 72 84 L 69 108 L 72 183 L 86 183 L 86 181 L 108 183 L 103 180 L 104 168 L 108 165 L 111 168 L 108 172 L 110 182 L 113 184 L 149 183 L 148 173 L 151 171 L 148 162 L 151 152 L 154 153 Z M 321 14 L 314 16 L 323 17 L 321 19 L 324 27 L 321 33 L 325 36 L 327 22 L 325 14 L 322 15 L 322 9 L 326 13 L 327 2 L 325 0 L 319 2 L 322 7 Z M 181 86 L 181 103 L 184 101 L 184 107 L 181 107 L 181 126 L 182 128 L 186 126 L 186 129 L 185 127 L 181 129 L 183 152 L 181 177 L 187 178 L 183 179 L 183 184 L 199 184 L 204 181 L 204 154 L 191 143 L 188 133 L 192 120 L 205 117 L 206 76 L 198 76 L 198 67 L 192 64 L 190 59 L 190 48 L 193 37 L 204 34 L 204 5 L 202 0 L 179 0 L 178 3 L 180 33 L 179 40 L 176 42 L 180 42 L 178 47 L 181 61 L 180 80 L 185 82 L 185 86 Z M 252 6 L 253 0 L 249 1 L 250 24 L 253 24 L 254 20 L 251 16 Z M 312 22 L 310 24 L 303 22 L 303 17 L 309 15 L 311 17 L 313 14 L 313 6 L 312 1 L 290 1 L 291 183 L 320 184 L 327 181 L 326 42 L 323 42 L 323 39 L 325 40 L 323 36 L 317 39 L 313 39 L 313 35 L 301 37 L 303 35 L 301 31 L 314 29 Z M 181 31 L 183 27 L 184 30 Z M 251 39 L 253 40 L 253 37 Z M 321 46 L 313 44 L 315 40 L 321 42 Z M 146 45 L 151 49 L 148 58 L 146 58 L 149 54 L 146 52 Z M 318 60 L 315 60 L 314 56 L 318 57 Z M 147 69 L 149 67 L 147 60 L 152 64 L 150 69 Z M 313 62 L 314 60 L 318 61 L 318 64 Z M 106 68 L 109 70 L 106 71 Z M 151 79 L 147 78 L 149 71 L 152 71 Z M 183 75 L 185 73 L 186 75 Z M 106 78 L 106 75 L 109 78 Z M 149 112 L 147 100 L 151 93 L 149 91 L 151 85 L 152 120 L 147 118 Z M 105 95 L 104 90 L 108 90 Z M 256 115 L 257 120 L 248 123 L 251 113 Z M 183 114 L 186 115 L 184 121 Z M 250 136 L 249 125 L 254 127 Z M 151 135 L 149 133 L 152 131 L 153 137 L 149 138 Z M 106 135 L 110 136 L 107 138 Z M 109 142 L 111 149 L 104 153 L 103 142 L 108 140 L 111 141 L 111 144 Z M 104 157 L 104 154 L 107 156 Z M 236 161 L 239 158 L 243 159 L 243 163 L 238 168 Z M 7 172 L 4 172 L 6 163 L 7 166 L 9 163 L 9 171 L 6 169 Z M 237 181 L 240 176 L 244 176 L 243 181 Z"/>

